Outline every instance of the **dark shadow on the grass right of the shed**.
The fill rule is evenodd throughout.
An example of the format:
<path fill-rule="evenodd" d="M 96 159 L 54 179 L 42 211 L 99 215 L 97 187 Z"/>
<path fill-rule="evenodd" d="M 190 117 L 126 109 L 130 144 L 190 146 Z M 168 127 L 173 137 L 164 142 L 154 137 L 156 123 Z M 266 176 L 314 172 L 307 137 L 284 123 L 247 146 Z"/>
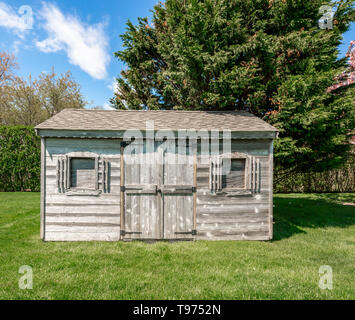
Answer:
<path fill-rule="evenodd" d="M 354 202 L 354 197 L 339 199 L 336 195 L 274 196 L 273 240 L 306 233 L 304 228 L 345 228 L 355 224 L 355 207 L 342 203 Z"/>

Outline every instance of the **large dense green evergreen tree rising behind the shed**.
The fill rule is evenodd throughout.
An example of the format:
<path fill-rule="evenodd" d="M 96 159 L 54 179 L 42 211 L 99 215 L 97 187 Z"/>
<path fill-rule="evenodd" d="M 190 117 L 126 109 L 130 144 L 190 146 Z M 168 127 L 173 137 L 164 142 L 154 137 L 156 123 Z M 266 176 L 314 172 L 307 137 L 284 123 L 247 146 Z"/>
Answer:
<path fill-rule="evenodd" d="M 277 165 L 322 171 L 347 157 L 351 88 L 327 92 L 344 71 L 342 33 L 353 0 L 167 0 L 152 24 L 127 23 L 127 69 L 117 79 L 116 108 L 247 110 L 280 130 Z M 321 29 L 320 8 L 336 9 Z"/>

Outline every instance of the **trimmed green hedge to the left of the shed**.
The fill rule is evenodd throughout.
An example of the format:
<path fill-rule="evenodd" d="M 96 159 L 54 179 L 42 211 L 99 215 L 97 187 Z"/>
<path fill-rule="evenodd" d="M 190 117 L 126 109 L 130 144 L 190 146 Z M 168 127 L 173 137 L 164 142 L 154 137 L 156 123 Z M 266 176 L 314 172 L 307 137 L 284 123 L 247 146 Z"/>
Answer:
<path fill-rule="evenodd" d="M 0 126 L 0 191 L 39 191 L 40 154 L 33 127 Z"/>

